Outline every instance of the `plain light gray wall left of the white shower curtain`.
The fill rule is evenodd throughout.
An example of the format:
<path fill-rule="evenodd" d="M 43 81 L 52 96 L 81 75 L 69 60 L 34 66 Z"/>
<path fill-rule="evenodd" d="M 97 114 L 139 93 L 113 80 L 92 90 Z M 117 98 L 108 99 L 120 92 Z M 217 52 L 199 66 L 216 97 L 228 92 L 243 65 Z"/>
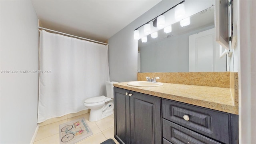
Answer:
<path fill-rule="evenodd" d="M 38 18 L 31 1 L 0 6 L 1 71 L 38 70 Z M 38 74 L 1 73 L 0 143 L 28 144 L 37 126 Z"/>

